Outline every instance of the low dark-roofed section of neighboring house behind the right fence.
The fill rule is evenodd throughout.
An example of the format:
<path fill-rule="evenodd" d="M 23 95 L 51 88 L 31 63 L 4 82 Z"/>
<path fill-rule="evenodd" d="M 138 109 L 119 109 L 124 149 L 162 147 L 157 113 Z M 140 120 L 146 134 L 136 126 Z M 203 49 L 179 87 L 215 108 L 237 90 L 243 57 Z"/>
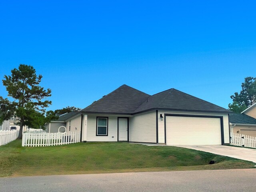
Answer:
<path fill-rule="evenodd" d="M 256 119 L 246 114 L 229 115 L 230 132 L 256 137 Z"/>

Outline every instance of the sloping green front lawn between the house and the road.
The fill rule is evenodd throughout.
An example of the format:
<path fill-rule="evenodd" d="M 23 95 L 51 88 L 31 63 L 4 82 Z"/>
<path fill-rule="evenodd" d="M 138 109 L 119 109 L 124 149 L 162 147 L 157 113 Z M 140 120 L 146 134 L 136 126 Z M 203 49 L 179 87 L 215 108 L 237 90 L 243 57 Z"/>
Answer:
<path fill-rule="evenodd" d="M 210 160 L 217 163 L 209 165 Z M 172 146 L 125 142 L 0 146 L 0 176 L 253 168 L 253 162 Z"/>

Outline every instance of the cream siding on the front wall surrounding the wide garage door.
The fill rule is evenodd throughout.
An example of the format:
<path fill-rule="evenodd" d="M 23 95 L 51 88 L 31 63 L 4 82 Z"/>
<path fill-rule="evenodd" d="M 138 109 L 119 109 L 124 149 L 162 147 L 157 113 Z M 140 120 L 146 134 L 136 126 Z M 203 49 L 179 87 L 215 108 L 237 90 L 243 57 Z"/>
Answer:
<path fill-rule="evenodd" d="M 188 115 L 208 115 L 208 116 L 223 116 L 223 129 L 224 129 L 224 143 L 229 142 L 229 124 L 228 114 L 215 114 L 215 113 L 198 113 L 198 112 L 176 112 L 176 111 L 162 111 L 158 110 L 158 143 L 164 143 L 164 120 L 160 120 L 160 114 L 188 114 Z"/>

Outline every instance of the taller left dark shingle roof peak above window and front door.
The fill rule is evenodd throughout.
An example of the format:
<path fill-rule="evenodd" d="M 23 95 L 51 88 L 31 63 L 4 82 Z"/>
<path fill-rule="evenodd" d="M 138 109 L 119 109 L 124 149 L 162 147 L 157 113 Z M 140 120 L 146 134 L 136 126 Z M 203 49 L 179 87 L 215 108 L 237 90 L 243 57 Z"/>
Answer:
<path fill-rule="evenodd" d="M 149 96 L 130 86 L 122 85 L 81 112 L 132 114 Z"/>

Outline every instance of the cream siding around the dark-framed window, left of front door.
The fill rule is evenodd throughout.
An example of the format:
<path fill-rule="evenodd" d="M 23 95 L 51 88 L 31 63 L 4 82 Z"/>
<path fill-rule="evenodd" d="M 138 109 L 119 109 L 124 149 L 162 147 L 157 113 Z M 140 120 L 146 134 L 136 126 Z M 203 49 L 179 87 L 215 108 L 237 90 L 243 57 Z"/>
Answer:
<path fill-rule="evenodd" d="M 97 117 L 108 117 L 108 136 L 96 136 Z M 86 141 L 117 141 L 117 116 L 88 115 Z"/>

